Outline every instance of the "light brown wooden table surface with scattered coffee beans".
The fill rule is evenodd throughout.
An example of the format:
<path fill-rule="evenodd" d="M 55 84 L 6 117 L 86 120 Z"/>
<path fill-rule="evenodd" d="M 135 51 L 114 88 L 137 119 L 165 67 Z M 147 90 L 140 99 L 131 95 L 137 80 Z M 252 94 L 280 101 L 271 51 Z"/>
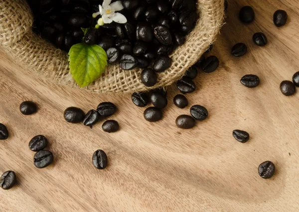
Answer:
<path fill-rule="evenodd" d="M 241 24 L 241 6 L 255 8 L 256 20 Z M 277 28 L 276 9 L 285 9 L 289 23 Z M 15 171 L 18 183 L 0 190 L 0 211 L 299 211 L 299 93 L 281 94 L 279 84 L 299 71 L 299 1 L 229 0 L 227 24 L 211 55 L 219 57 L 217 71 L 199 73 L 197 90 L 186 95 L 189 106 L 199 104 L 209 118 L 190 130 L 175 126 L 175 118 L 188 114 L 172 103 L 179 92 L 168 91 L 163 119 L 144 120 L 145 108 L 134 106 L 131 95 L 95 95 L 42 81 L 0 52 L 0 122 L 9 138 L 0 141 L 0 173 Z M 252 42 L 262 31 L 269 43 Z M 237 42 L 248 53 L 230 55 Z M 256 74 L 261 84 L 242 86 L 245 74 Z M 22 101 L 38 104 L 36 114 L 19 112 Z M 90 129 L 63 118 L 68 106 L 85 112 L 104 101 L 118 106 L 111 118 L 120 131 L 105 133 L 102 122 Z M 250 133 L 247 143 L 232 136 L 233 129 Z M 47 168 L 33 165 L 29 140 L 43 134 L 49 139 L 54 162 Z M 105 170 L 92 164 L 92 154 L 103 149 L 109 158 Z M 260 163 L 276 165 L 275 176 L 258 175 Z"/>

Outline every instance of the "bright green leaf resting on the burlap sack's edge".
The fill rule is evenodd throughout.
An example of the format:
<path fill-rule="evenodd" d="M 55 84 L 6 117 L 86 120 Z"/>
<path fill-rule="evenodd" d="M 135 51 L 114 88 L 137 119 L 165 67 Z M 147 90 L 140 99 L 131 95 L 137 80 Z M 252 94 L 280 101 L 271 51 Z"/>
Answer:
<path fill-rule="evenodd" d="M 97 80 L 108 65 L 107 54 L 98 45 L 78 43 L 71 47 L 68 55 L 70 72 L 79 87 Z"/>

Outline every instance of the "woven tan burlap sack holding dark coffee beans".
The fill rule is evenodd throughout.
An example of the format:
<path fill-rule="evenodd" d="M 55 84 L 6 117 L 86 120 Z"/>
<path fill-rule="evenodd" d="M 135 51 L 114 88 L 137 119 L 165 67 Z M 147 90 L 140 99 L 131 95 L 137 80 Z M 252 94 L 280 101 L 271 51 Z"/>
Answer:
<path fill-rule="evenodd" d="M 186 43 L 170 56 L 171 67 L 158 74 L 154 87 L 165 87 L 182 77 L 215 40 L 223 21 L 224 0 L 198 0 L 200 18 Z M 0 1 L 0 45 L 32 74 L 62 85 L 77 86 L 68 69 L 68 56 L 32 32 L 32 15 L 26 0 Z M 148 91 L 140 69 L 124 71 L 109 65 L 100 79 L 85 89 L 97 93 Z"/>

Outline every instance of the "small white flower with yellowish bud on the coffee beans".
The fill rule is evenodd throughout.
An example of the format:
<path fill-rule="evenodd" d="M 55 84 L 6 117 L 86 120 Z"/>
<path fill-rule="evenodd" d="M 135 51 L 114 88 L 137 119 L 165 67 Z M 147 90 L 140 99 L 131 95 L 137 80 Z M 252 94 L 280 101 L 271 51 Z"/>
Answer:
<path fill-rule="evenodd" d="M 102 15 L 102 18 L 98 20 L 98 24 L 101 26 L 104 23 L 111 23 L 112 21 L 115 21 L 117 23 L 126 23 L 127 18 L 125 15 L 116 12 L 120 11 L 124 8 L 122 1 L 118 0 L 113 2 L 112 4 L 111 0 L 104 0 L 103 5 L 99 5 L 99 12 L 93 13 L 92 16 L 95 18 L 99 14 Z"/>

